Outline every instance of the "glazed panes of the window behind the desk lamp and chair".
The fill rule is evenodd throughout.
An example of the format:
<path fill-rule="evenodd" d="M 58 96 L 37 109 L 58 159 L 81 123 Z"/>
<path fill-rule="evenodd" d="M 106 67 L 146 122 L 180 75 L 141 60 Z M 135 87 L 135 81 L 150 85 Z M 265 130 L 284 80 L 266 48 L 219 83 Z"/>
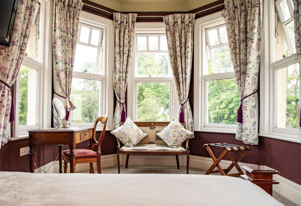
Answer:
<path fill-rule="evenodd" d="M 80 23 L 70 99 L 76 105 L 73 124 L 89 124 L 101 116 L 103 29 Z"/>

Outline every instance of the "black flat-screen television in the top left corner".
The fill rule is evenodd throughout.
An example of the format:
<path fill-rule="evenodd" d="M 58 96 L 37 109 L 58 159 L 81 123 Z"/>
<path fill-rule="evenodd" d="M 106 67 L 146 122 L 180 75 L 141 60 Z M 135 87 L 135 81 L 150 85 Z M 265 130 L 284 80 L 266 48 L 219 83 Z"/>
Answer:
<path fill-rule="evenodd" d="M 0 1 L 0 45 L 9 46 L 19 0 Z"/>

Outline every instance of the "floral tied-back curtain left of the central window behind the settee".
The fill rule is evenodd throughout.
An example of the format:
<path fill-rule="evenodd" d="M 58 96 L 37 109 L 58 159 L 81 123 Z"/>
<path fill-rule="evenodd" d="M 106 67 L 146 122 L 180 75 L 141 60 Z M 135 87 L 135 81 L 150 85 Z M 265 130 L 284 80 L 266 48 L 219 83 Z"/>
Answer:
<path fill-rule="evenodd" d="M 136 13 L 113 13 L 114 16 L 114 67 L 113 84 L 117 98 L 113 129 L 126 121 L 125 92 L 133 50 Z"/>

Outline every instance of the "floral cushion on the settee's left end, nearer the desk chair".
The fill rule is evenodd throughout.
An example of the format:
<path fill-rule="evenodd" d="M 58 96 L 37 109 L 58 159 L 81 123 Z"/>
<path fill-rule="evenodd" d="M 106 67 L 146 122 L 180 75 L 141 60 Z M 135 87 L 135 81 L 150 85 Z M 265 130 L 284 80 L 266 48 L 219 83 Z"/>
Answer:
<path fill-rule="evenodd" d="M 127 147 L 137 145 L 141 139 L 147 136 L 129 117 L 126 118 L 123 125 L 111 131 L 111 134 Z"/>

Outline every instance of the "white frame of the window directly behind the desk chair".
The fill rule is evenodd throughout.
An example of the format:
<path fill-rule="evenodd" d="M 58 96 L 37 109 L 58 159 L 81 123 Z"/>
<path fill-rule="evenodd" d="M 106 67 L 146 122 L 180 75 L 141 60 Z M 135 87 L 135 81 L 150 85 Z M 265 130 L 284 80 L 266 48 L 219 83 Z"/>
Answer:
<path fill-rule="evenodd" d="M 82 11 L 79 16 L 80 25 L 84 24 L 85 27 L 100 30 L 102 29 L 102 48 L 103 48 L 103 73 L 102 74 L 92 74 L 87 72 L 76 72 L 73 71 L 73 78 L 80 79 L 92 79 L 101 81 L 101 101 L 100 101 L 100 115 L 108 115 L 107 129 L 111 130 L 113 128 L 113 104 L 110 100 L 113 100 L 113 58 L 114 58 L 114 47 L 113 47 L 113 21 L 105 19 L 103 17 Z M 89 37 L 89 42 L 91 39 L 91 34 Z M 78 36 L 79 39 L 79 36 Z M 82 45 L 93 46 L 98 48 L 98 57 L 101 46 L 90 45 L 82 42 L 77 42 Z M 97 64 L 98 65 L 97 58 Z M 71 91 L 72 92 L 72 91 Z M 93 123 L 72 123 L 73 127 L 93 127 Z M 97 131 L 102 130 L 103 124 L 98 124 Z"/>

